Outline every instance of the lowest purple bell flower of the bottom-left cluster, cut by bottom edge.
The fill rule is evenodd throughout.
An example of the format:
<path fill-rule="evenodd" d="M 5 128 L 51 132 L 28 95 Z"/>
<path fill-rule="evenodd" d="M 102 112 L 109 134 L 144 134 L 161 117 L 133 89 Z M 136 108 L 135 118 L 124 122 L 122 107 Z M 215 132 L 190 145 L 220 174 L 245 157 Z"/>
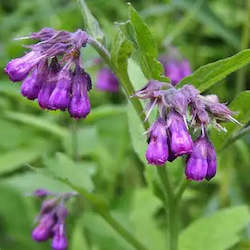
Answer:
<path fill-rule="evenodd" d="M 65 233 L 65 224 L 60 223 L 56 224 L 53 229 L 54 235 L 51 243 L 53 250 L 66 250 L 68 246 L 66 233 Z"/>

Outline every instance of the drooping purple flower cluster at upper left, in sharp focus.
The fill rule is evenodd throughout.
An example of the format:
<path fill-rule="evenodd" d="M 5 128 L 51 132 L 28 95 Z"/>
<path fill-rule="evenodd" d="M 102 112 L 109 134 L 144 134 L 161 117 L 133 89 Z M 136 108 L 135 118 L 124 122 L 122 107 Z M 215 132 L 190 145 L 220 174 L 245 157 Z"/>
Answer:
<path fill-rule="evenodd" d="M 7 64 L 5 72 L 10 80 L 23 81 L 22 95 L 38 99 L 42 109 L 68 110 L 76 119 L 86 117 L 91 79 L 81 65 L 80 49 L 88 42 L 87 33 L 43 28 L 28 38 L 37 43 L 28 46 L 26 55 Z"/>

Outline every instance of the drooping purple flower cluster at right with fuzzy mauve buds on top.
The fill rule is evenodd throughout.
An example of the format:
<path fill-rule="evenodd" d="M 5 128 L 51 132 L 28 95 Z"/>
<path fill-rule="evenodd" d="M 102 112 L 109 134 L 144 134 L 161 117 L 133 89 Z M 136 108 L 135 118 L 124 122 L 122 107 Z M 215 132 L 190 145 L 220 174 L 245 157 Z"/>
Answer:
<path fill-rule="evenodd" d="M 171 84 L 152 80 L 134 96 L 149 99 L 146 119 L 155 106 L 158 108 L 158 118 L 148 131 L 148 163 L 163 165 L 187 155 L 187 179 L 210 180 L 216 174 L 216 152 L 206 128 L 211 124 L 225 130 L 220 122 L 237 122 L 233 112 L 219 103 L 217 96 L 202 96 L 192 85 L 176 89 Z M 191 129 L 201 131 L 194 142 Z"/>

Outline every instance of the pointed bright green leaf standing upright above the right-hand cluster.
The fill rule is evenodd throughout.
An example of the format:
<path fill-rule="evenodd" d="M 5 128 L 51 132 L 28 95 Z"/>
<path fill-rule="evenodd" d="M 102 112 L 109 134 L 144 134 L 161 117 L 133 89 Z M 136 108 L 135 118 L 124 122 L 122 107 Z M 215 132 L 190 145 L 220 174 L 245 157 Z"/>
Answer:
<path fill-rule="evenodd" d="M 135 30 L 139 49 L 139 61 L 144 75 L 148 79 L 167 81 L 162 64 L 157 60 L 158 51 L 148 26 L 143 22 L 136 10 L 130 5 L 129 16 Z"/>

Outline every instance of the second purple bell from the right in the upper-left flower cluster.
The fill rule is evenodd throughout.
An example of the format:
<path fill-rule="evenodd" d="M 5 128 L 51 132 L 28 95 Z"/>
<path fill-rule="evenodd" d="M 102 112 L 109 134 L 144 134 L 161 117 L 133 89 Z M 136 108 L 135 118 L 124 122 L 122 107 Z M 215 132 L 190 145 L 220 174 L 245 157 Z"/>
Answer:
<path fill-rule="evenodd" d="M 59 72 L 56 87 L 49 98 L 49 106 L 52 109 L 65 110 L 68 108 L 71 85 L 72 73 L 68 69 L 62 69 Z"/>

